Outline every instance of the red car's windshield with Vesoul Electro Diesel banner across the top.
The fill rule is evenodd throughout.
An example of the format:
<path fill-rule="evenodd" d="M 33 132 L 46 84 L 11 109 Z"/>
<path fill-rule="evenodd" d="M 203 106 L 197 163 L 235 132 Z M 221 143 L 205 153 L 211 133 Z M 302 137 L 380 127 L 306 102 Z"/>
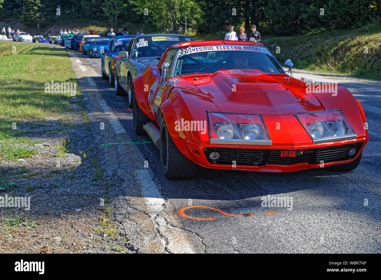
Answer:
<path fill-rule="evenodd" d="M 265 47 L 222 45 L 179 49 L 174 75 L 206 74 L 224 69 L 257 69 L 265 73 L 284 73 Z"/>

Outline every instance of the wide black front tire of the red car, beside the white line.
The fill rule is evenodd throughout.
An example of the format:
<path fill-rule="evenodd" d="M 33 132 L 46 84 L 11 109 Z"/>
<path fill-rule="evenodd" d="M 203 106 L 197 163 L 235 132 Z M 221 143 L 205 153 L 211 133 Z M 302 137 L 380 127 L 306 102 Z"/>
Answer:
<path fill-rule="evenodd" d="M 196 163 L 189 160 L 174 144 L 162 119 L 160 127 L 160 163 L 167 179 L 190 179 L 195 176 Z"/>

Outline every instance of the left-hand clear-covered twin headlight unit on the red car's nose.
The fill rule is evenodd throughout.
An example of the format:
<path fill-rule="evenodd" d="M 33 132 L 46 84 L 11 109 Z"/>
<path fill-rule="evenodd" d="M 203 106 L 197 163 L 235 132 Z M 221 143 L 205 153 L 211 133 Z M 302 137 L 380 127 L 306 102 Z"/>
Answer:
<path fill-rule="evenodd" d="M 271 145 L 260 114 L 207 111 L 211 144 Z"/>

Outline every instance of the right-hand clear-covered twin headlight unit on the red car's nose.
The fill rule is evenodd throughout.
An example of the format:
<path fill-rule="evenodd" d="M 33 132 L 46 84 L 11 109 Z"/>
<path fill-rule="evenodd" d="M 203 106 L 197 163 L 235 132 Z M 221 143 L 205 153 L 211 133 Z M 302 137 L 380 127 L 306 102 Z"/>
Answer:
<path fill-rule="evenodd" d="M 357 138 L 340 109 L 294 114 L 314 144 Z M 327 119 L 328 116 L 331 119 Z M 308 120 L 312 119 L 311 122 Z M 319 137 L 320 136 L 320 137 Z"/>

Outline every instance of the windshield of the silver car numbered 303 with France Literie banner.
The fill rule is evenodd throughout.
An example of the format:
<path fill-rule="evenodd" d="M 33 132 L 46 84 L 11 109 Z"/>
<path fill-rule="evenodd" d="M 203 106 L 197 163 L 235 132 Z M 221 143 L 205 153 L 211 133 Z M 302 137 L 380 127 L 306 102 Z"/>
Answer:
<path fill-rule="evenodd" d="M 171 45 L 182 42 L 193 41 L 190 37 L 181 36 L 147 36 L 137 39 L 132 57 L 141 58 L 145 56 L 160 57 Z"/>

